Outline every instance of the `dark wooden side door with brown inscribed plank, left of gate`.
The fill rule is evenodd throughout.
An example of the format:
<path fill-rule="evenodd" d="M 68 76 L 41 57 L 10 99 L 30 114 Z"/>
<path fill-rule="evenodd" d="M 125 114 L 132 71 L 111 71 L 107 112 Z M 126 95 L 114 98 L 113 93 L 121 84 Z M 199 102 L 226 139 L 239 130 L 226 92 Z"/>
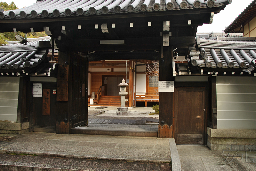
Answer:
<path fill-rule="evenodd" d="M 33 84 L 33 83 L 31 83 Z M 31 85 L 32 86 L 32 85 Z M 56 132 L 56 83 L 42 83 L 42 96 L 33 98 L 32 131 Z M 32 92 L 32 91 L 31 91 Z"/>

